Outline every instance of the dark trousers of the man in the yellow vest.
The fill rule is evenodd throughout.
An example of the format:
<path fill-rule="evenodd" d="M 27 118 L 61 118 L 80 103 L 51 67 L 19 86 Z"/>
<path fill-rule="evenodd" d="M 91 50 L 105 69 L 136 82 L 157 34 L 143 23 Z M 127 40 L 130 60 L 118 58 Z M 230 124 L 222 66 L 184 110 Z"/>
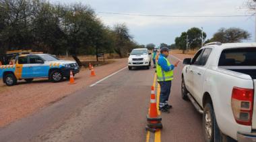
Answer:
<path fill-rule="evenodd" d="M 172 81 L 160 81 L 160 100 L 159 100 L 159 108 L 164 107 L 168 104 L 168 99 L 170 96 L 170 87 L 172 86 Z"/>

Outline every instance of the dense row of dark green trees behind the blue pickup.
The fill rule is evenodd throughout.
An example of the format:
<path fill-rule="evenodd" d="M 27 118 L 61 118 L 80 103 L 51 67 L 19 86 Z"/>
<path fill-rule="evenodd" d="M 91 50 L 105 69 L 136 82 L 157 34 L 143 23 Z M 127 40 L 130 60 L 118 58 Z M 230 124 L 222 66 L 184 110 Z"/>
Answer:
<path fill-rule="evenodd" d="M 0 56 L 7 50 L 56 55 L 117 53 L 137 44 L 125 24 L 107 27 L 89 5 L 52 5 L 44 0 L 0 0 Z"/>

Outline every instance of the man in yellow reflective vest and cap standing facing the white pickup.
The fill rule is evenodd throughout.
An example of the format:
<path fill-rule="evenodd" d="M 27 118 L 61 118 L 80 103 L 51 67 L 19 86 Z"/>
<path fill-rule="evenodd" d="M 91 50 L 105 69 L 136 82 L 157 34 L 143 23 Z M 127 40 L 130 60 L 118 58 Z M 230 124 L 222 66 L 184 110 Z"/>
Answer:
<path fill-rule="evenodd" d="M 172 106 L 168 104 L 168 98 L 170 96 L 170 87 L 173 80 L 173 70 L 179 64 L 179 62 L 176 64 L 170 64 L 170 62 L 167 60 L 168 55 L 168 48 L 161 48 L 160 56 L 158 58 L 158 62 L 156 63 L 156 74 L 161 88 L 159 110 L 163 113 L 170 113 L 169 109 L 172 109 Z"/>

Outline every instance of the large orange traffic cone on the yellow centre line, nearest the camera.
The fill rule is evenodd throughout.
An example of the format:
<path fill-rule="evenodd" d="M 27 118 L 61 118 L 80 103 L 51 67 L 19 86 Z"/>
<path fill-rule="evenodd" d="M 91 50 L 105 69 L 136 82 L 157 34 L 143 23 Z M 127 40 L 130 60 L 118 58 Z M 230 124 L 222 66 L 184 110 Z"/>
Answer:
<path fill-rule="evenodd" d="M 156 107 L 156 95 L 154 86 L 151 87 L 151 97 L 150 97 L 150 115 L 147 115 L 148 125 L 146 130 L 152 133 L 162 129 L 162 118 L 158 116 L 158 111 Z"/>

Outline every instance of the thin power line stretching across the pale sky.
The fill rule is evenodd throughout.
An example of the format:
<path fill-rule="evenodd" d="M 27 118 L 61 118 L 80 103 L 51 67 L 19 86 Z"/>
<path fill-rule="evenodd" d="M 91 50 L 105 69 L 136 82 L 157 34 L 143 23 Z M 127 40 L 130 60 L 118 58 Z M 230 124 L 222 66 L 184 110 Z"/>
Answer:
<path fill-rule="evenodd" d="M 147 15 L 147 14 L 132 14 L 132 13 L 113 13 L 113 12 L 98 12 L 110 15 L 131 15 L 144 17 L 251 17 L 252 15 Z"/>

